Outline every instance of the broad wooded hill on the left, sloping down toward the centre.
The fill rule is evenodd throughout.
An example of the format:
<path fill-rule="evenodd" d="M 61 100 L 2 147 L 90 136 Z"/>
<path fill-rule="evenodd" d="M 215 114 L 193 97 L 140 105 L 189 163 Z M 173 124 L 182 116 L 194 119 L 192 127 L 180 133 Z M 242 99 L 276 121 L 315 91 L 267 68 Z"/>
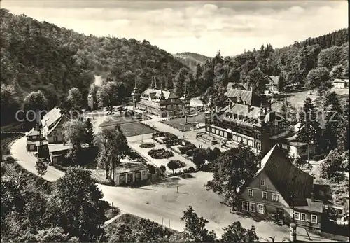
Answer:
<path fill-rule="evenodd" d="M 85 97 L 94 75 L 123 81 L 132 90 L 137 76 L 142 89 L 151 76 L 171 81 L 181 67 L 188 69 L 146 40 L 86 36 L 3 8 L 0 41 L 1 84 L 18 83 L 25 92 L 41 89 L 57 99 L 72 87 Z"/>

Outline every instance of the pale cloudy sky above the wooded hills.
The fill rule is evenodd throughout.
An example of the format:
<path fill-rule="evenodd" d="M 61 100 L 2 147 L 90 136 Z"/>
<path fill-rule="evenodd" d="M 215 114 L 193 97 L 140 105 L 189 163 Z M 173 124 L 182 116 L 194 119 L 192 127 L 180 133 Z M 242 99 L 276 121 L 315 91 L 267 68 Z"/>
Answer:
<path fill-rule="evenodd" d="M 96 36 L 148 40 L 169 53 L 214 57 L 274 48 L 348 26 L 348 2 L 3 0 L 1 8 Z"/>

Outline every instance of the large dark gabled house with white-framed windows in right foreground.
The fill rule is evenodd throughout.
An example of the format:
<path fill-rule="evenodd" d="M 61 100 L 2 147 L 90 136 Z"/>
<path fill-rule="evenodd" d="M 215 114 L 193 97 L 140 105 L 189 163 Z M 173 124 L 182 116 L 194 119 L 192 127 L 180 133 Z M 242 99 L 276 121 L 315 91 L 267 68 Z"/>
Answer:
<path fill-rule="evenodd" d="M 316 231 L 321 231 L 324 217 L 314 178 L 295 167 L 276 145 L 262 158 L 258 172 L 241 188 L 238 209 L 276 223 L 294 222 Z"/>

